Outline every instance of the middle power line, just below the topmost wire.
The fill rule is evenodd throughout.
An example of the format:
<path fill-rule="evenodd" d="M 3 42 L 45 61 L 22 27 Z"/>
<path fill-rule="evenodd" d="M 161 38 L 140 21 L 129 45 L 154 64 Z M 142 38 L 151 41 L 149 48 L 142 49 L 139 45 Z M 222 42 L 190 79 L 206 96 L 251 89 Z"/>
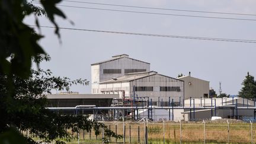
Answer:
<path fill-rule="evenodd" d="M 39 3 L 33 2 L 33 4 L 39 4 Z M 59 7 L 71 7 L 71 8 L 95 9 L 95 10 L 103 10 L 103 11 L 131 12 L 131 13 L 139 13 L 139 14 L 171 15 L 171 16 L 178 16 L 178 17 L 196 17 L 196 18 L 215 18 L 215 19 L 225 19 L 225 20 L 256 21 L 256 19 L 248 19 L 248 18 L 207 17 L 207 16 L 198 16 L 198 15 L 166 14 L 166 13 L 156 13 L 156 12 L 126 11 L 126 10 L 118 10 L 118 9 L 77 7 L 77 6 L 71 6 L 71 5 L 57 5 L 57 6 L 59 6 Z"/>

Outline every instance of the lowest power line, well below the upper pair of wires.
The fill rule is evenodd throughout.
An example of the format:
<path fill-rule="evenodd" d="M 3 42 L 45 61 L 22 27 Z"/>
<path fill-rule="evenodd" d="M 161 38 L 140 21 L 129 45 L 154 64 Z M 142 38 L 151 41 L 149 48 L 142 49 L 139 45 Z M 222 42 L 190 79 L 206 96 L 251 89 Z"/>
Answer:
<path fill-rule="evenodd" d="M 36 25 L 29 25 L 32 27 L 37 27 Z M 52 26 L 43 26 L 39 27 L 44 28 L 56 28 Z M 80 28 L 68 28 L 68 27 L 59 27 L 63 30 L 77 30 L 77 31 L 91 31 L 98 33 L 113 33 L 113 34 L 129 34 L 136 36 L 152 36 L 152 37 L 169 37 L 169 38 L 177 38 L 177 39 L 195 39 L 195 40 L 213 40 L 213 41 L 229 41 L 229 42 L 238 42 L 238 43 L 256 43 L 256 40 L 245 40 L 245 39 L 223 39 L 223 38 L 213 38 L 213 37 L 191 37 L 191 36 L 175 36 L 175 35 L 164 35 L 164 34 L 147 34 L 147 33 L 130 33 L 123 31 L 105 31 L 105 30 L 90 30 L 90 29 L 80 29 Z"/>

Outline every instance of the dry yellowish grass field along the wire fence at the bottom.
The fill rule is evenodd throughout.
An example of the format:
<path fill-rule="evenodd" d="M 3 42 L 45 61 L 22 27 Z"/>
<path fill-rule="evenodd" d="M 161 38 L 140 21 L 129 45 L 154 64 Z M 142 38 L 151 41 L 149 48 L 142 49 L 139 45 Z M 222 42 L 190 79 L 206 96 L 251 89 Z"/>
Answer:
<path fill-rule="evenodd" d="M 123 135 L 123 123 L 122 122 L 105 122 L 107 126 L 119 135 Z M 145 123 L 145 126 L 147 124 Z M 145 131 L 144 123 L 126 122 L 125 123 L 125 141 L 126 143 L 144 143 Z M 253 124 L 253 142 L 256 142 L 255 126 Z M 130 129 L 129 129 L 130 127 Z M 139 127 L 139 130 L 138 130 Z M 251 143 L 251 124 L 249 123 L 231 123 L 229 124 L 229 142 L 230 143 Z M 165 134 L 165 135 L 164 135 Z M 97 139 L 94 132 L 91 133 L 79 133 L 80 143 L 102 143 L 102 135 Z M 163 123 L 148 123 L 148 143 L 180 143 L 180 123 L 165 123 L 165 133 Z M 181 140 L 182 143 L 204 143 L 204 125 L 202 122 L 190 122 L 182 123 L 181 125 Z M 75 139 L 71 143 L 78 143 Z M 116 139 L 111 138 L 110 143 L 116 143 Z M 117 143 L 123 143 L 123 139 L 117 140 Z M 225 122 L 212 123 L 207 121 L 206 123 L 206 143 L 228 143 L 228 124 Z"/>

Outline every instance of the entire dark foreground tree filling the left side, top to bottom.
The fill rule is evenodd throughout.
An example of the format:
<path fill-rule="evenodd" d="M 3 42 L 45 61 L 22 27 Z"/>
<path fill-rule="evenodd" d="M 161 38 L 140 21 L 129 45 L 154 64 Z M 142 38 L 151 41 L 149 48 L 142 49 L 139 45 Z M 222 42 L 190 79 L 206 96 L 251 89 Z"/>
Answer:
<path fill-rule="evenodd" d="M 0 143 L 36 143 L 33 136 L 44 142 L 63 143 L 73 137 L 66 129 L 72 132 L 94 129 L 98 135 L 101 127 L 105 135 L 120 137 L 106 129 L 103 123 L 85 116 L 60 115 L 45 108 L 48 101 L 44 94 L 52 89 L 68 91 L 72 84 L 88 84 L 82 79 L 71 81 L 52 76 L 49 70 L 31 69 L 33 60 L 39 66 L 41 60 L 49 60 L 49 57 L 39 44 L 43 36 L 25 24 L 24 18 L 35 15 L 35 24 L 40 28 L 37 17 L 46 15 L 60 37 L 55 17 L 66 18 L 56 7 L 60 1 L 41 0 L 40 8 L 27 0 L 0 0 Z M 25 137 L 17 130 L 30 130 L 33 135 Z"/>

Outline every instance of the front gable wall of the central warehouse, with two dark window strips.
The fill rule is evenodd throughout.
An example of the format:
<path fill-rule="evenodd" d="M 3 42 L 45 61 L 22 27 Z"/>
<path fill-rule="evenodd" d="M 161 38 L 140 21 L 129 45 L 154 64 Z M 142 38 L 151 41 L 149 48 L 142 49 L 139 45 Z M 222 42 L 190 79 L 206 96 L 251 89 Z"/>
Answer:
<path fill-rule="evenodd" d="M 153 91 L 135 91 L 138 97 L 149 97 L 152 101 L 163 100 L 165 102 L 169 101 L 169 97 L 174 98 L 175 102 L 178 102 L 180 97 L 181 100 L 184 98 L 184 82 L 175 78 L 169 78 L 163 75 L 152 75 L 146 78 L 137 79 L 130 82 L 130 94 L 133 94 L 133 85 L 135 87 L 153 87 Z M 160 87 L 180 87 L 180 91 L 160 91 Z"/>

